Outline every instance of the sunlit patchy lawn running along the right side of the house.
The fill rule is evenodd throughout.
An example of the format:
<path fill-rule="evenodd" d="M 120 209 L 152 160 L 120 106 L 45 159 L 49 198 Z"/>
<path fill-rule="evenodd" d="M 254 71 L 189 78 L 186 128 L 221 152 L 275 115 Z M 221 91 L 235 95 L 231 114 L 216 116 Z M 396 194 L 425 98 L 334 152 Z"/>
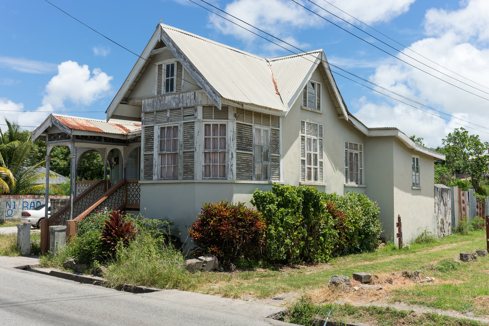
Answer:
<path fill-rule="evenodd" d="M 386 303 L 402 301 L 488 315 L 488 258 L 462 263 L 453 270 L 440 272 L 436 269 L 438 261 L 458 258 L 460 252 L 484 249 L 485 245 L 485 230 L 474 231 L 468 235 L 454 234 L 431 243 L 413 243 L 411 249 L 399 250 L 394 245 L 388 245 L 373 253 L 339 257 L 328 264 L 316 266 L 276 270 L 250 268 L 235 273 L 198 273 L 193 276 L 196 282 L 182 284 L 181 288 L 232 298 L 244 295 L 269 298 L 279 293 L 294 292 L 299 296 L 309 296 L 316 303 L 327 303 L 341 298 L 324 290 L 332 275 L 346 275 L 351 278 L 353 272 L 370 272 L 378 275 L 379 282 L 382 282 L 392 273 L 421 270 L 422 278 L 430 276 L 437 280 L 434 283 L 414 283 L 399 276 L 396 279 L 399 282 L 391 287 L 385 286 L 384 290 L 375 295 L 379 295 L 381 298 L 378 299 Z"/>

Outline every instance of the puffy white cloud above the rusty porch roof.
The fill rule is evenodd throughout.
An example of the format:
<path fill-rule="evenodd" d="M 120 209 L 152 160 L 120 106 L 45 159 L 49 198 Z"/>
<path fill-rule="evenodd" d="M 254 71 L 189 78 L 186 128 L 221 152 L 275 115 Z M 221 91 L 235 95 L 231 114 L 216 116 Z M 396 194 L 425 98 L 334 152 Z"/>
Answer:
<path fill-rule="evenodd" d="M 64 107 L 65 101 L 75 105 L 90 105 L 107 95 L 113 77 L 102 72 L 100 68 L 93 69 L 92 74 L 90 76 L 88 65 L 78 65 L 74 61 L 61 63 L 58 74 L 44 89 L 43 108 L 60 109 Z"/>

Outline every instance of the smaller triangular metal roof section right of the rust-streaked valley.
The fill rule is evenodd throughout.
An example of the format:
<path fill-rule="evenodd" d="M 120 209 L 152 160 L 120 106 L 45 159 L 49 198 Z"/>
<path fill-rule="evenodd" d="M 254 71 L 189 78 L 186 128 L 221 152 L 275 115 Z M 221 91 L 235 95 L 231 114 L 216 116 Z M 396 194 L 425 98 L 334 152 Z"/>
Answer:
<path fill-rule="evenodd" d="M 273 77 L 282 101 L 288 104 L 304 82 L 311 68 L 319 64 L 322 50 L 311 51 L 306 55 L 293 55 L 270 59 Z"/>

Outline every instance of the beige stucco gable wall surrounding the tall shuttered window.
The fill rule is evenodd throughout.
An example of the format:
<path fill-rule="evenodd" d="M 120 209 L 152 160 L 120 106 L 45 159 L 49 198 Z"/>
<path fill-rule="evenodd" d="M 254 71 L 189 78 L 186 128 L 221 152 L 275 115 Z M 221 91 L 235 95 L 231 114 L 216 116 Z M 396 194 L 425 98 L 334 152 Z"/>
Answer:
<path fill-rule="evenodd" d="M 344 119 L 338 118 L 338 111 L 325 85 L 323 76 L 316 69 L 311 81 L 321 83 L 321 112 L 301 109 L 302 93 L 295 101 L 287 116 L 282 119 L 282 166 L 283 181 L 299 186 L 315 186 L 327 193 L 343 194 L 345 190 L 363 192 L 362 187 L 345 187 L 344 147 L 345 141 L 364 144 L 363 134 Z M 324 182 L 301 183 L 300 174 L 300 120 L 322 124 Z M 365 182 L 365 181 L 364 181 Z"/>

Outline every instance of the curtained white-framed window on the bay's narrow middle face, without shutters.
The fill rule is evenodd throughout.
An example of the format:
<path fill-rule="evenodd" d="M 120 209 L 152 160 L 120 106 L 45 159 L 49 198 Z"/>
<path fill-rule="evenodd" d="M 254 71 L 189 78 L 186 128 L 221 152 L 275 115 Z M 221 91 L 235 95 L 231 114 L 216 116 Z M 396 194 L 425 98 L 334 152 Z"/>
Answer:
<path fill-rule="evenodd" d="M 204 123 L 204 178 L 226 178 L 224 123 Z"/>

